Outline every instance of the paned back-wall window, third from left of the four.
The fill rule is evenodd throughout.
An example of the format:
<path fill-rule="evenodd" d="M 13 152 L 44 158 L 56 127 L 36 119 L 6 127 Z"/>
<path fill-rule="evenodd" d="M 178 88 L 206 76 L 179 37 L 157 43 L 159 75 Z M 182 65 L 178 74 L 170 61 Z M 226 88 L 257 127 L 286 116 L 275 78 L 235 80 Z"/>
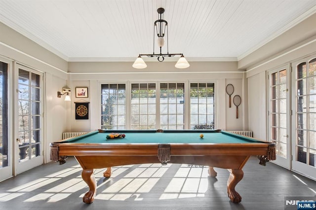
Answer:
<path fill-rule="evenodd" d="M 184 129 L 184 83 L 160 83 L 160 129 Z"/>

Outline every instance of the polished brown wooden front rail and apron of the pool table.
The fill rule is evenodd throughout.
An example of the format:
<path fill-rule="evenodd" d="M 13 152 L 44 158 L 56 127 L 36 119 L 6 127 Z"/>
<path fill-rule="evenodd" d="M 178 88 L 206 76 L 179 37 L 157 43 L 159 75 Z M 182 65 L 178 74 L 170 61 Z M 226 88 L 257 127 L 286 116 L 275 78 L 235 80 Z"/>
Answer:
<path fill-rule="evenodd" d="M 103 163 L 103 167 L 112 167 L 119 165 L 129 164 L 144 164 L 150 163 L 147 161 L 154 161 L 153 163 L 180 163 L 180 160 L 185 161 L 183 164 L 195 164 L 197 158 L 193 162 L 188 162 L 190 157 L 202 157 L 200 158 L 199 165 L 209 165 L 213 162 L 214 167 L 221 165 L 223 168 L 227 168 L 223 164 L 216 163 L 216 160 L 220 160 L 221 157 L 225 158 L 237 156 L 251 156 L 257 155 L 261 157 L 260 164 L 265 165 L 269 160 L 275 160 L 275 146 L 274 144 L 263 143 L 222 143 L 222 144 L 203 144 L 203 143 L 170 143 L 163 144 L 166 152 L 165 157 L 159 157 L 159 151 L 161 151 L 161 145 L 158 143 L 148 144 L 133 144 L 133 143 L 51 143 L 51 160 L 58 161 L 60 164 L 65 163 L 65 157 L 67 156 L 106 156 L 109 161 L 108 164 Z M 125 161 L 119 161 L 118 157 L 130 157 Z M 187 157 L 186 157 L 187 156 Z M 111 157 L 114 157 L 111 158 Z M 185 158 L 186 157 L 186 158 Z M 207 157 L 207 158 L 206 158 Z M 118 158 L 116 160 L 116 158 Z M 122 158 L 124 159 L 124 158 Z M 192 158 L 191 158 L 192 159 Z M 141 162 L 140 162 L 141 161 Z M 196 163 L 197 164 L 197 163 Z"/>

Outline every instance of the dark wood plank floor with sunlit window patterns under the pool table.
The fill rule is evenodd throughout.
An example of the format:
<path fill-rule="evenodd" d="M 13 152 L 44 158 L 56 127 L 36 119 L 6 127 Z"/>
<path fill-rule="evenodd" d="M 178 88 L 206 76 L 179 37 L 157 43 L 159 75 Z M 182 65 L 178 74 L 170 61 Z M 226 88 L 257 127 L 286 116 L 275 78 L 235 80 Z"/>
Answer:
<path fill-rule="evenodd" d="M 96 170 L 97 195 L 88 205 L 81 168 L 69 158 L 0 182 L 0 210 L 284 210 L 286 197 L 316 196 L 316 181 L 252 157 L 236 187 L 242 201 L 234 204 L 227 197 L 228 171 L 216 170 L 216 178 L 206 167 L 185 164 L 116 167 L 111 178 Z"/>

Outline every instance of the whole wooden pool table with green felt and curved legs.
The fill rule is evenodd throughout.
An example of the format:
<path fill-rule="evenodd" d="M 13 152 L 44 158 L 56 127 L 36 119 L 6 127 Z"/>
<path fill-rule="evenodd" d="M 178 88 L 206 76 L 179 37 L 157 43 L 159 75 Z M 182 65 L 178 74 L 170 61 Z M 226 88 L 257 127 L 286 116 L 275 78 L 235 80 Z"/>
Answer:
<path fill-rule="evenodd" d="M 125 138 L 107 139 L 111 133 L 125 134 Z M 276 159 L 275 151 L 274 143 L 221 130 L 97 130 L 52 142 L 50 159 L 63 164 L 67 156 L 75 156 L 83 169 L 82 179 L 89 186 L 83 197 L 87 204 L 93 202 L 96 194 L 94 169 L 107 168 L 103 175 L 110 177 L 113 166 L 145 163 L 209 166 L 210 176 L 217 175 L 213 167 L 228 169 L 228 197 L 239 203 L 241 196 L 235 186 L 243 177 L 242 167 L 251 155 L 265 165 Z"/>

